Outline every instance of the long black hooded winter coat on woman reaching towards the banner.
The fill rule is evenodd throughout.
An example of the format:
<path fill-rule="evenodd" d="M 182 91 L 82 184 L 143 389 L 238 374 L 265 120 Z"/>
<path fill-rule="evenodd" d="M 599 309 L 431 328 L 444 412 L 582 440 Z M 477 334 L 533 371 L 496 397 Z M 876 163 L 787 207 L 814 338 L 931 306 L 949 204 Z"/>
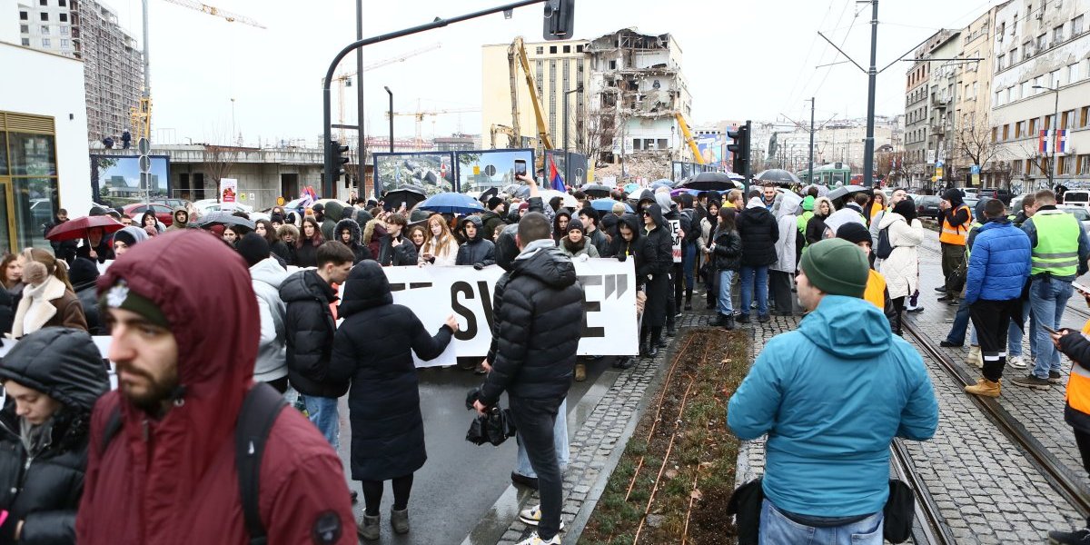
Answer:
<path fill-rule="evenodd" d="M 390 282 L 376 262 L 352 268 L 340 315 L 344 322 L 334 339 L 329 376 L 352 382 L 352 479 L 408 475 L 427 460 L 412 352 L 435 359 L 452 331 L 444 325 L 433 337 L 412 311 L 393 304 Z"/>

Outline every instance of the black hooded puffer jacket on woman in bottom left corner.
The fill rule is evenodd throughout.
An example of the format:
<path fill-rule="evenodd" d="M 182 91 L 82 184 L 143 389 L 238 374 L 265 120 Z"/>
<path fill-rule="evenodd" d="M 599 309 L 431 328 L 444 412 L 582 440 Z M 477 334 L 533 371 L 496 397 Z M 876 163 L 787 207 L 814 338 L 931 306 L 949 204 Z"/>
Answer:
<path fill-rule="evenodd" d="M 0 411 L 0 543 L 75 543 L 75 511 L 83 495 L 90 411 L 110 388 L 106 365 L 86 331 L 48 327 L 20 340 L 3 359 L 0 380 L 14 380 L 61 403 L 48 444 L 28 456 L 20 438 L 15 400 Z"/>

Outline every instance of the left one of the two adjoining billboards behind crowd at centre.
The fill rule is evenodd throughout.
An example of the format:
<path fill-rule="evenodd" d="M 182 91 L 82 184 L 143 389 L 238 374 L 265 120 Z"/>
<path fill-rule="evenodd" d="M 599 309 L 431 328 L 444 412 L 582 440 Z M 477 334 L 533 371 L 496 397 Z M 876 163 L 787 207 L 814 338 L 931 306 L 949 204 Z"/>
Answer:
<path fill-rule="evenodd" d="M 373 155 L 375 195 L 404 185 L 423 187 L 428 195 L 455 191 L 455 156 L 450 152 Z"/>

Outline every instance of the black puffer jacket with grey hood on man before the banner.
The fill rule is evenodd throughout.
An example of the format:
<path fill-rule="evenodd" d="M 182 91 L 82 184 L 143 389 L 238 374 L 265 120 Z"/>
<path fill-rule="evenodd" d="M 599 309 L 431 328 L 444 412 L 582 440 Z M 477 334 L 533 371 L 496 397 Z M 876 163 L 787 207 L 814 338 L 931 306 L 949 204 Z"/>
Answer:
<path fill-rule="evenodd" d="M 499 338 L 481 402 L 509 396 L 559 399 L 568 395 L 583 332 L 583 287 L 571 259 L 533 241 L 514 259 L 496 312 Z"/>

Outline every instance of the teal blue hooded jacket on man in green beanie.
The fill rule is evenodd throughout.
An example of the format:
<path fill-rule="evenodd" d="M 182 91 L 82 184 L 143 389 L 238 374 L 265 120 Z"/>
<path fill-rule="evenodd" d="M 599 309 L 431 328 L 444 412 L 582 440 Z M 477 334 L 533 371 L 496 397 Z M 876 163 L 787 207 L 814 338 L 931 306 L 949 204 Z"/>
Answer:
<path fill-rule="evenodd" d="M 930 438 L 938 405 L 920 354 L 876 306 L 825 295 L 765 344 L 727 407 L 742 440 L 768 434 L 764 494 L 814 517 L 881 511 L 893 438 Z"/>

